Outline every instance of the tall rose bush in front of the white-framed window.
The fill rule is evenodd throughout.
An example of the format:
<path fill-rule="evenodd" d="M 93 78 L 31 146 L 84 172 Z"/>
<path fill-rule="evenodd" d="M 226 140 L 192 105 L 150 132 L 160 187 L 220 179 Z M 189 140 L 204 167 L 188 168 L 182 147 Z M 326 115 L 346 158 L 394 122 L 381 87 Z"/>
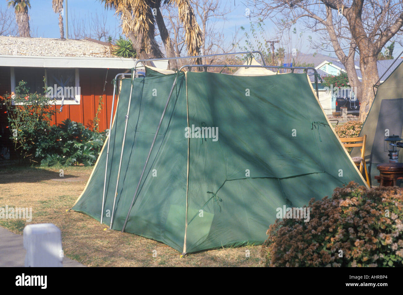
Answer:
<path fill-rule="evenodd" d="M 44 85 L 46 80 L 44 79 Z M 44 93 L 46 88 L 44 87 Z M 56 110 L 46 94 L 29 93 L 27 82 L 20 81 L 15 92 L 5 95 L 8 128 L 15 150 L 21 158 L 35 162 L 35 149 L 40 137 L 50 128 Z M 13 104 L 14 102 L 14 104 Z"/>

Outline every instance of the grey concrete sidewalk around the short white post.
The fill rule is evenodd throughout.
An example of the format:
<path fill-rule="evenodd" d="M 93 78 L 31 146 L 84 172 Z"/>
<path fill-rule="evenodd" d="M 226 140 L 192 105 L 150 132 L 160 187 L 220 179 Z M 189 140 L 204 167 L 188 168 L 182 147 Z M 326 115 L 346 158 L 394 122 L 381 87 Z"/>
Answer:
<path fill-rule="evenodd" d="M 0 226 L 0 267 L 24 267 L 25 253 L 23 236 Z M 63 267 L 85 267 L 83 264 L 63 258 Z"/>

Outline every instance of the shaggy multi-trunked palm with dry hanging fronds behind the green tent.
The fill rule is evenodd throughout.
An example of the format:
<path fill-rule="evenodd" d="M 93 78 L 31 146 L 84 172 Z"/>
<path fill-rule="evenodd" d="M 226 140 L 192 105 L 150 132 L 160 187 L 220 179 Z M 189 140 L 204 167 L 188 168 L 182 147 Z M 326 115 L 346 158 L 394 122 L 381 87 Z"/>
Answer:
<path fill-rule="evenodd" d="M 161 33 L 162 42 L 167 55 L 172 55 L 172 42 L 161 17 L 162 0 L 101 0 L 105 7 L 116 10 L 122 21 L 122 30 L 133 43 L 137 56 L 142 59 L 162 58 L 160 46 L 155 39 L 155 24 Z M 186 48 L 189 56 L 197 56 L 202 46 L 202 30 L 189 0 L 164 0 L 164 4 L 174 4 L 178 7 L 179 19 L 185 28 Z M 156 8 L 154 16 L 152 9 Z M 173 56 L 172 56 L 173 57 Z M 196 61 L 198 64 L 200 60 Z"/>

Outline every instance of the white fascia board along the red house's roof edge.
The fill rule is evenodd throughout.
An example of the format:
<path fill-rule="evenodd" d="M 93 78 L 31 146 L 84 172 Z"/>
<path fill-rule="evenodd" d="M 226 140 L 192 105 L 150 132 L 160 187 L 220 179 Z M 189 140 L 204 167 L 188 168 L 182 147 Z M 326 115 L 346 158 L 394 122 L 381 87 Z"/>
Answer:
<path fill-rule="evenodd" d="M 134 67 L 135 61 L 133 58 L 120 57 L 0 55 L 0 66 L 33 68 L 131 69 Z M 160 69 L 166 69 L 168 60 L 154 61 L 154 64 Z M 138 65 L 141 66 L 141 63 Z"/>

